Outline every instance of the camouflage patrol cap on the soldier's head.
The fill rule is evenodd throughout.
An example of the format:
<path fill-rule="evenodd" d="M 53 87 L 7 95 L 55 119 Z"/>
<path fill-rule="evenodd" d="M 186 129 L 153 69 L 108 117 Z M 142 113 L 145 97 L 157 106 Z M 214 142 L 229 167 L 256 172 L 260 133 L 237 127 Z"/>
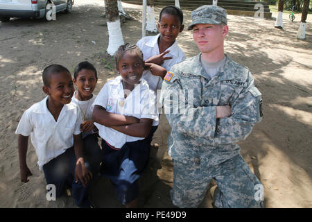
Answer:
<path fill-rule="evenodd" d="M 196 24 L 227 24 L 227 12 L 219 6 L 205 5 L 196 8 L 191 13 L 192 23 L 187 30 L 191 30 Z"/>

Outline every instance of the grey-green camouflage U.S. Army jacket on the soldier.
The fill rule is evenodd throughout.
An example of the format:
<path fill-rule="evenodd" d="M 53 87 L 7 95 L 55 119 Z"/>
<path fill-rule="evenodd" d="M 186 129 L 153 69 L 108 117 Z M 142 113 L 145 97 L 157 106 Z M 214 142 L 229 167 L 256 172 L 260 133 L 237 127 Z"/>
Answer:
<path fill-rule="evenodd" d="M 200 54 L 184 60 L 166 74 L 160 98 L 171 126 L 169 155 L 209 167 L 239 153 L 236 142 L 262 119 L 262 101 L 250 71 L 228 56 L 214 78 L 205 76 Z M 216 119 L 217 105 L 231 105 L 232 115 Z"/>

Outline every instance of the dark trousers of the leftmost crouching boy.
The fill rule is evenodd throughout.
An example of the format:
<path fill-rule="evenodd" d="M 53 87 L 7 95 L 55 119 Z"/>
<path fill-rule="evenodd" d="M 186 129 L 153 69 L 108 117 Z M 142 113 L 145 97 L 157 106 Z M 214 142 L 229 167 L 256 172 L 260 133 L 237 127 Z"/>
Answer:
<path fill-rule="evenodd" d="M 56 188 L 56 197 L 60 197 L 65 186 L 71 187 L 73 200 L 78 207 L 89 207 L 88 188 L 78 180 L 75 182 L 76 155 L 73 147 L 44 164 L 43 171 L 46 184 L 53 184 Z"/>

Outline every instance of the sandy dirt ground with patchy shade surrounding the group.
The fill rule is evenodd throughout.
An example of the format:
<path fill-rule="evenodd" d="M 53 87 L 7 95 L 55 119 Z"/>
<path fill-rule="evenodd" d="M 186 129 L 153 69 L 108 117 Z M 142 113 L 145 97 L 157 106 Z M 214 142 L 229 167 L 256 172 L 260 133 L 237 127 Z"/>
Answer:
<path fill-rule="evenodd" d="M 125 42 L 141 38 L 141 6 L 123 3 L 133 18 L 122 24 Z M 160 8 L 155 8 L 158 19 Z M 105 56 L 108 32 L 103 0 L 76 0 L 73 12 L 59 13 L 56 21 L 15 19 L 0 24 L 0 207 L 75 207 L 63 196 L 46 200 L 44 174 L 37 167 L 35 150 L 29 142 L 28 167 L 33 176 L 27 183 L 19 178 L 15 129 L 26 108 L 44 98 L 42 70 L 59 63 L 70 71 L 83 60 L 98 69 L 95 94 L 117 74 L 114 61 Z M 191 21 L 184 11 L 184 24 Z M 241 153 L 265 189 L 265 207 L 312 207 L 312 28 L 308 16 L 306 40 L 297 40 L 300 18 L 284 14 L 284 31 L 272 19 L 228 15 L 229 35 L 225 52 L 250 69 L 263 94 L 263 121 L 240 142 Z M 198 53 L 189 31 L 177 38 L 187 57 Z M 170 126 L 161 116 L 154 142 L 158 152 L 140 179 L 140 207 L 174 207 L 169 191 L 173 182 L 171 157 L 166 139 Z M 123 207 L 110 182 L 92 184 L 91 196 L 98 207 Z M 211 207 L 207 194 L 200 207 Z"/>

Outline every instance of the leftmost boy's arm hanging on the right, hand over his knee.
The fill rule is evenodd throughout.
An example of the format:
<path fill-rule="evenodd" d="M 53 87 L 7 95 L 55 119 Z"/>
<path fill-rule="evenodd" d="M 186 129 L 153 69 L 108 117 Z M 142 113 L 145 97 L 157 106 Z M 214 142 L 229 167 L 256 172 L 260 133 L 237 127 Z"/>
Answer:
<path fill-rule="evenodd" d="M 92 178 L 92 173 L 87 169 L 85 161 L 83 160 L 83 138 L 81 134 L 73 135 L 73 149 L 77 159 L 75 167 L 76 182 L 80 180 L 83 186 L 86 187 L 89 180 Z"/>

